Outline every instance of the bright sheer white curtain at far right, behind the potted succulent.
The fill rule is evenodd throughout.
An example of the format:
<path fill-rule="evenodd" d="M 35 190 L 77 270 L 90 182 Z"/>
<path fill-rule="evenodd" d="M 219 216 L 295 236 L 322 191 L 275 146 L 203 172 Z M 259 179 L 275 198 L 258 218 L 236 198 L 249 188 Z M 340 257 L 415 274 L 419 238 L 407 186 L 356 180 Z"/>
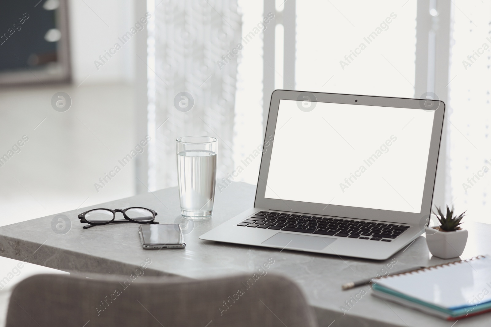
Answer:
<path fill-rule="evenodd" d="M 490 223 L 491 1 L 454 2 L 449 103 L 452 200 Z"/>

